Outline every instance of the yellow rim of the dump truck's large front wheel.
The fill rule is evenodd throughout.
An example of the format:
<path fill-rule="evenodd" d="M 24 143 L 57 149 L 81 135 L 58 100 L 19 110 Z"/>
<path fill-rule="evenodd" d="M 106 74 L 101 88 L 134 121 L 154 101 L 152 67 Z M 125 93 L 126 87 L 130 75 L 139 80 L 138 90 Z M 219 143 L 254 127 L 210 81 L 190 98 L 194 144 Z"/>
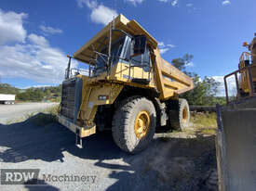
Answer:
<path fill-rule="evenodd" d="M 137 138 L 141 139 L 144 137 L 150 126 L 150 115 L 146 110 L 142 110 L 138 113 L 136 120 L 134 122 L 134 132 Z"/>

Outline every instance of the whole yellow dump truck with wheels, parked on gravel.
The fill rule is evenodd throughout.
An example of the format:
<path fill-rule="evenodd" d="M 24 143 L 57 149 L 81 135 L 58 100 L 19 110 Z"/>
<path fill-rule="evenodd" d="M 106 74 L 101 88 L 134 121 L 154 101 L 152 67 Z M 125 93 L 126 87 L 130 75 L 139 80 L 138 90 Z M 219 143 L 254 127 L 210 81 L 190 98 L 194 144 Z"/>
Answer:
<path fill-rule="evenodd" d="M 88 73 L 71 69 L 72 58 L 88 64 Z M 76 134 L 77 146 L 96 130 L 112 130 L 117 146 L 136 153 L 156 127 L 188 125 L 189 107 L 179 95 L 193 88 L 160 56 L 154 37 L 119 15 L 70 57 L 58 120 Z"/>

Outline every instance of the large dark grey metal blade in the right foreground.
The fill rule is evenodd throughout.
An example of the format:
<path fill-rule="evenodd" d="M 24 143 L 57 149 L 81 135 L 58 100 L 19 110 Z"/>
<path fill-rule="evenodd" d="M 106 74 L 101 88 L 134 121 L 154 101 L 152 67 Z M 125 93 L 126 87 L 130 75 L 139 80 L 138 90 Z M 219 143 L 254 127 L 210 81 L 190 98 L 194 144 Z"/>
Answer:
<path fill-rule="evenodd" d="M 219 190 L 256 188 L 256 108 L 217 106 Z"/>

